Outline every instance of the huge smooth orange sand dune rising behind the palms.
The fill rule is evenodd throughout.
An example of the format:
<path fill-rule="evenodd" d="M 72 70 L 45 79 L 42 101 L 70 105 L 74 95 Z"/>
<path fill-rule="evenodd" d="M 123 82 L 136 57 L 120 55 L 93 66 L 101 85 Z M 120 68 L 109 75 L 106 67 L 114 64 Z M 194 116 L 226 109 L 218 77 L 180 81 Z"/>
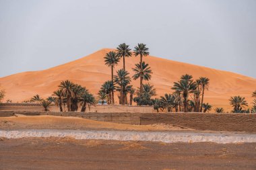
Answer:
<path fill-rule="evenodd" d="M 75 83 L 86 86 L 94 94 L 98 92 L 104 81 L 110 79 L 110 68 L 104 65 L 106 52 L 113 49 L 102 49 L 93 54 L 59 65 L 44 71 L 33 71 L 18 73 L 0 78 L 0 84 L 7 92 L 5 99 L 13 102 L 30 99 L 33 95 L 39 94 L 42 97 L 49 97 L 55 91 L 59 83 L 65 79 L 70 79 Z M 228 99 L 232 95 L 242 95 L 252 102 L 251 93 L 256 89 L 256 79 L 219 71 L 207 67 L 190 65 L 183 62 L 147 56 L 143 60 L 150 64 L 153 75 L 150 83 L 156 87 L 158 96 L 164 93 L 171 93 L 174 81 L 179 80 L 181 75 L 188 73 L 194 79 L 201 76 L 210 78 L 209 91 L 205 92 L 205 102 L 211 103 L 214 108 L 223 107 L 231 110 Z M 139 57 L 132 56 L 126 58 L 126 68 L 131 76 L 131 70 L 135 63 L 139 62 Z M 123 62 L 115 68 L 121 69 Z M 133 81 L 135 87 L 139 86 L 139 81 Z M 117 100 L 116 100 L 117 101 Z"/>

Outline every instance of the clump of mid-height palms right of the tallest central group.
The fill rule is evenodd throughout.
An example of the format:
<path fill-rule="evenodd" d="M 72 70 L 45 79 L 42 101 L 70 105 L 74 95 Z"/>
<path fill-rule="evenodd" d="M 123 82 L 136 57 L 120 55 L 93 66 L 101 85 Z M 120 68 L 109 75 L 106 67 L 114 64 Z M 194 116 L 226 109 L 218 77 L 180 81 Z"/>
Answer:
<path fill-rule="evenodd" d="M 173 93 L 154 99 L 154 109 L 157 112 L 159 109 L 166 112 L 207 112 L 212 109 L 212 105 L 203 103 L 203 97 L 209 85 L 210 79 L 207 77 L 193 81 L 192 75 L 182 75 L 179 81 L 174 82 L 171 88 Z"/>

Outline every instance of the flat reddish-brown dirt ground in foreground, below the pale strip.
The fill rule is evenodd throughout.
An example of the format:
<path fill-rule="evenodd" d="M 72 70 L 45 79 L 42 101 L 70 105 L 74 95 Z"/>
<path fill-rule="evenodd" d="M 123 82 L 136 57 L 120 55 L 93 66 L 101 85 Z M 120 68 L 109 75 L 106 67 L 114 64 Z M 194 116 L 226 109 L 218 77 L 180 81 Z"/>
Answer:
<path fill-rule="evenodd" d="M 0 169 L 256 169 L 256 143 L 1 138 Z"/>

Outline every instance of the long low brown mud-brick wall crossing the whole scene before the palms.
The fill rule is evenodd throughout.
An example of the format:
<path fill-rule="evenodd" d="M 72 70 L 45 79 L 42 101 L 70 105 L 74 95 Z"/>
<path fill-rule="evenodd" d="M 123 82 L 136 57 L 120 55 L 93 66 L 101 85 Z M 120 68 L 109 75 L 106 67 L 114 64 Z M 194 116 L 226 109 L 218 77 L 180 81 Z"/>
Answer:
<path fill-rule="evenodd" d="M 121 124 L 176 124 L 196 130 L 223 130 L 256 132 L 256 114 L 203 114 L 203 113 L 100 113 L 100 112 L 18 112 L 0 111 L 1 116 L 52 115 L 76 116 L 90 120 Z"/>

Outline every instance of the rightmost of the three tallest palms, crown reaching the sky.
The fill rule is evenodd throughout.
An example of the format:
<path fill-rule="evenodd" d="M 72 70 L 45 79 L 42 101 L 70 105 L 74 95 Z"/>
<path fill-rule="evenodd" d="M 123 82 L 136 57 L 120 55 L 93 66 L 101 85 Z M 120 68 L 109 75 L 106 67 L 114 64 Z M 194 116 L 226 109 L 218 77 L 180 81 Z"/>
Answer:
<path fill-rule="evenodd" d="M 142 71 L 143 70 L 143 63 L 142 63 L 142 58 L 143 56 L 148 56 L 150 54 L 150 52 L 148 52 L 148 48 L 146 47 L 146 44 L 143 44 L 143 43 L 140 43 L 138 44 L 137 46 L 135 46 L 135 49 L 134 49 L 134 52 L 133 54 L 135 56 L 140 56 L 140 62 L 139 62 L 139 67 L 137 68 L 140 68 L 139 70 Z M 144 63 L 145 65 L 145 63 Z M 140 74 L 140 84 L 139 84 L 139 88 L 140 88 L 140 92 L 142 92 L 142 79 L 143 79 L 143 75 Z"/>

